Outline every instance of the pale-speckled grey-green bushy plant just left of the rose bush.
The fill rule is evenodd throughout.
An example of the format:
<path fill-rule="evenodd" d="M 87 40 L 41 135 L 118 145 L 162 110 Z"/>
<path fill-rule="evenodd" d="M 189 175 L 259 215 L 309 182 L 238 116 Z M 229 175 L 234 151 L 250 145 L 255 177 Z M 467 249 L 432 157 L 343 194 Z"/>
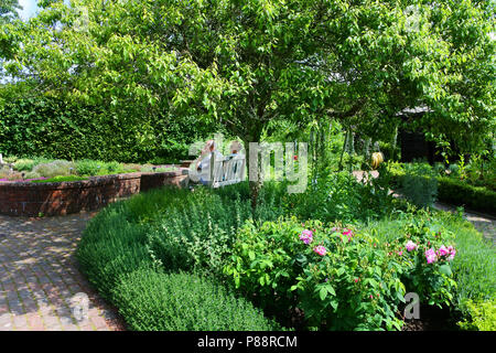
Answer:
<path fill-rule="evenodd" d="M 223 188 L 218 193 L 204 188 L 190 195 L 187 191 L 170 191 L 165 210 L 147 199 L 145 205 L 136 199 L 130 207 L 155 207 L 147 214 L 157 220 L 149 236 L 150 247 L 168 270 L 203 268 L 220 272 L 234 234 L 246 220 L 274 220 L 282 212 L 278 211 L 277 199 L 268 188 L 252 214 L 246 184 Z"/>

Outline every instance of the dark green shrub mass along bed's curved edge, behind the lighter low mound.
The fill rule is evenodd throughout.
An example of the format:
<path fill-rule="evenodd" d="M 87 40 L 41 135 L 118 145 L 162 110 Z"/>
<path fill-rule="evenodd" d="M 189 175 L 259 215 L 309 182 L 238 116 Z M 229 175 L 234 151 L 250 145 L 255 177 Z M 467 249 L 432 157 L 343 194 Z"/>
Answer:
<path fill-rule="evenodd" d="M 85 229 L 76 252 L 82 270 L 107 296 L 117 276 L 154 260 L 169 271 L 220 271 L 233 234 L 252 217 L 248 190 L 247 183 L 222 191 L 164 188 L 110 204 Z M 270 190 L 260 193 L 258 218 L 280 215 Z"/>

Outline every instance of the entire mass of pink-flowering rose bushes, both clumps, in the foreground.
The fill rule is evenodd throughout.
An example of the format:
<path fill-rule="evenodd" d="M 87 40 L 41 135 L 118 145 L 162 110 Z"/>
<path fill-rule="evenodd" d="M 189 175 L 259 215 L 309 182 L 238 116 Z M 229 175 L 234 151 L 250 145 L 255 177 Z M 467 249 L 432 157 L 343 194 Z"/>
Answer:
<path fill-rule="evenodd" d="M 392 243 L 370 234 L 300 223 L 295 217 L 247 222 L 224 267 L 236 288 L 271 312 L 295 308 L 308 328 L 400 330 L 406 292 L 421 302 L 450 304 L 455 249 L 428 227 L 408 224 Z"/>

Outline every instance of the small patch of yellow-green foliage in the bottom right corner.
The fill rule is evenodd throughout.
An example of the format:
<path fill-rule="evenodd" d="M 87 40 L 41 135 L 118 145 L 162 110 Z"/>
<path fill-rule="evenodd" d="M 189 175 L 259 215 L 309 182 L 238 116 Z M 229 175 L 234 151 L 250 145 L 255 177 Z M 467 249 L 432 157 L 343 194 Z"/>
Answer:
<path fill-rule="evenodd" d="M 466 303 L 470 319 L 459 322 L 462 330 L 496 331 L 496 299 Z"/>

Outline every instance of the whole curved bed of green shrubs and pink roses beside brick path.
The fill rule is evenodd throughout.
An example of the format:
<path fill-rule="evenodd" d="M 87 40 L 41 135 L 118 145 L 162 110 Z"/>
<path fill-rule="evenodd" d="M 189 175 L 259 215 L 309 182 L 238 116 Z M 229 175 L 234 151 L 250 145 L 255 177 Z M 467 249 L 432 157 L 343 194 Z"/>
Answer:
<path fill-rule="evenodd" d="M 112 204 L 85 231 L 80 269 L 131 330 L 425 331 L 464 319 L 493 328 L 478 312 L 493 308 L 494 248 L 471 224 L 398 208 L 393 218 L 324 225 L 305 221 L 284 191 L 266 184 L 255 212 L 246 183 Z M 212 280 L 202 296 L 177 285 L 198 278 Z M 217 292 L 238 298 L 223 317 L 203 300 Z M 420 320 L 402 319 L 407 292 L 420 296 Z"/>

